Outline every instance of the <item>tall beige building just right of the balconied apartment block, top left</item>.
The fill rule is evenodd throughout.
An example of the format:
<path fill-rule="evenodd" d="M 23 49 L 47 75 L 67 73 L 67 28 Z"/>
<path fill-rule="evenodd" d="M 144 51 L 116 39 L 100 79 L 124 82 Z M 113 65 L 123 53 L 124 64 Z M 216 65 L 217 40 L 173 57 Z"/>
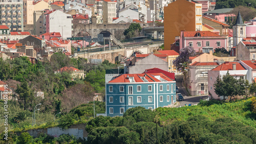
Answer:
<path fill-rule="evenodd" d="M 40 11 L 49 8 L 49 4 L 46 3 L 45 1 L 34 2 L 32 0 L 24 0 L 23 3 L 24 25 L 33 25 L 34 11 Z"/>

